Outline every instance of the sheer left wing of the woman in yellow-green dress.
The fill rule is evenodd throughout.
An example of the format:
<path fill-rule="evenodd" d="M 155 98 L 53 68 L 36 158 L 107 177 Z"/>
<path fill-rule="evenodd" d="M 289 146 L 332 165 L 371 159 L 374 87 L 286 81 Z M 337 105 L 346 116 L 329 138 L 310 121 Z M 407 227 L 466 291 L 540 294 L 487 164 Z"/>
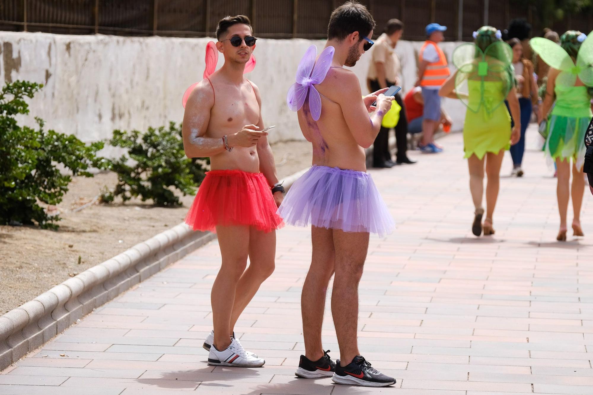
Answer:
<path fill-rule="evenodd" d="M 479 67 L 478 59 L 482 59 L 483 55 L 482 50 L 475 44 L 466 43 L 455 48 L 451 56 L 451 62 L 457 68 L 457 74 L 455 75 L 455 92 L 457 93 L 457 97 L 474 113 L 480 110 L 481 101 L 470 101 L 468 99 L 470 93 L 468 81 L 476 75 Z"/>

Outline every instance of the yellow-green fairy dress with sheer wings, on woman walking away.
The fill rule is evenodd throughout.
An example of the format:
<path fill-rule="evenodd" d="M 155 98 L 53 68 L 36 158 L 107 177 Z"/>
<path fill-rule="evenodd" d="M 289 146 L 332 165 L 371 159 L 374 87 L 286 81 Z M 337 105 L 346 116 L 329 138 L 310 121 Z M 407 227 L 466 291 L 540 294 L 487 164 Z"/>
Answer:
<path fill-rule="evenodd" d="M 482 159 L 487 152 L 508 150 L 511 115 L 503 103 L 514 86 L 511 47 L 496 41 L 482 51 L 476 44 L 461 44 L 452 59 L 458 68 L 455 91 L 468 110 L 463 124 L 464 157 Z"/>

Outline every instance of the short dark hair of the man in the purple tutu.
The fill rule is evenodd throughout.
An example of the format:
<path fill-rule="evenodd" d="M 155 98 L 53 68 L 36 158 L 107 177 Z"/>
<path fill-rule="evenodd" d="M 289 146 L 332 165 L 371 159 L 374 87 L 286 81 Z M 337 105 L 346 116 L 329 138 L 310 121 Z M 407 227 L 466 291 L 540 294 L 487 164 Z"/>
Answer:
<path fill-rule="evenodd" d="M 347 1 L 331 12 L 327 25 L 327 39 L 344 40 L 350 33 L 358 31 L 361 36 L 371 33 L 375 20 L 368 9 L 357 1 Z M 362 40 L 362 37 L 360 38 Z"/>

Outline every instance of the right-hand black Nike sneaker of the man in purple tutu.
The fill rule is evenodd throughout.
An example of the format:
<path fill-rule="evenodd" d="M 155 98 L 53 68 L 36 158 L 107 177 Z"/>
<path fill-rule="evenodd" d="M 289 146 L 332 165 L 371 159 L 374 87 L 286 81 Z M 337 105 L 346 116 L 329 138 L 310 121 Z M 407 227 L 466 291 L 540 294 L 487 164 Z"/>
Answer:
<path fill-rule="evenodd" d="M 340 360 L 336 362 L 336 372 L 331 380 L 337 384 L 348 384 L 350 386 L 363 387 L 387 387 L 396 383 L 396 379 L 386 376 L 377 369 L 371 367 L 361 355 L 356 355 L 350 364 L 340 366 Z"/>

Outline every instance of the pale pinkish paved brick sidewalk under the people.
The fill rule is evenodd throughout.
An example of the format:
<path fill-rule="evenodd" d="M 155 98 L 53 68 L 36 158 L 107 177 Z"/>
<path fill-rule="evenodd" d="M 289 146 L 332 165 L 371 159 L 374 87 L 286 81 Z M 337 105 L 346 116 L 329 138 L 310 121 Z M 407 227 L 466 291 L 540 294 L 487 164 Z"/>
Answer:
<path fill-rule="evenodd" d="M 394 388 L 295 378 L 311 246 L 308 229 L 287 227 L 276 272 L 237 328 L 264 368 L 205 363 L 219 264 L 211 243 L 2 372 L 0 394 L 593 394 L 593 197 L 586 191 L 588 237 L 557 243 L 556 180 L 528 133 L 525 177 L 501 180 L 493 237 L 470 232 L 460 134 L 441 140 L 441 155 L 371 172 L 398 229 L 371 237 L 359 343 Z M 510 166 L 507 156 L 503 174 Z M 324 341 L 338 357 L 329 311 Z"/>

